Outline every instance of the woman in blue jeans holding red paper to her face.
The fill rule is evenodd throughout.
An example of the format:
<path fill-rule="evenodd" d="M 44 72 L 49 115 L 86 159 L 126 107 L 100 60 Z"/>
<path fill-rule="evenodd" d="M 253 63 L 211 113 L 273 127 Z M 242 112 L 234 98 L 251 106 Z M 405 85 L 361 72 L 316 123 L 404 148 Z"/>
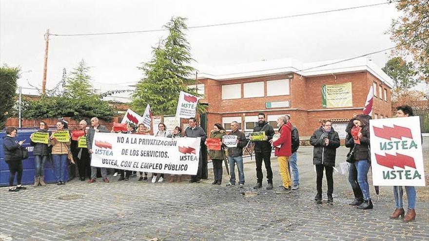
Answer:
<path fill-rule="evenodd" d="M 351 136 L 354 140 L 354 166 L 357 170 L 357 182 L 362 190 L 363 203 L 358 209 L 372 209 L 370 186 L 368 184 L 368 171 L 370 170 L 370 119 L 369 115 L 358 115 L 351 128 Z"/>

